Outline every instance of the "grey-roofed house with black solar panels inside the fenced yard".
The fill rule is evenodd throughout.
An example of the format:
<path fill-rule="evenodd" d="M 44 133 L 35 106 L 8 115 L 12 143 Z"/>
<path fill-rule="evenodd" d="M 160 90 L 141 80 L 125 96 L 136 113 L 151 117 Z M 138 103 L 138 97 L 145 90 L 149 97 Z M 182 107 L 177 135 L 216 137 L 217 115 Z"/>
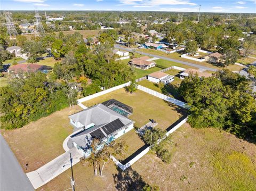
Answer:
<path fill-rule="evenodd" d="M 128 106 L 130 107 L 130 106 Z M 93 138 L 97 138 L 102 144 L 110 143 L 126 132 L 133 129 L 134 121 L 122 115 L 125 104 L 110 99 L 69 115 L 70 123 L 76 128 L 81 129 L 75 135 L 70 136 L 74 147 L 81 150 L 84 154 L 90 153 L 90 144 Z M 131 108 L 131 107 L 130 107 Z"/>

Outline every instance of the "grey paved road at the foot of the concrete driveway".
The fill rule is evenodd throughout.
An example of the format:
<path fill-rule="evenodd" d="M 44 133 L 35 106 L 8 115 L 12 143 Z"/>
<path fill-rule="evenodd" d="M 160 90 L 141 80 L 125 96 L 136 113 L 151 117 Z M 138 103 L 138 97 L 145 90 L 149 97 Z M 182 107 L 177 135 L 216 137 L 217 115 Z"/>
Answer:
<path fill-rule="evenodd" d="M 0 154 L 0 190 L 5 191 L 30 191 L 35 190 L 28 177 L 23 172 L 15 155 L 9 145 L 0 135 L 1 154 Z"/>

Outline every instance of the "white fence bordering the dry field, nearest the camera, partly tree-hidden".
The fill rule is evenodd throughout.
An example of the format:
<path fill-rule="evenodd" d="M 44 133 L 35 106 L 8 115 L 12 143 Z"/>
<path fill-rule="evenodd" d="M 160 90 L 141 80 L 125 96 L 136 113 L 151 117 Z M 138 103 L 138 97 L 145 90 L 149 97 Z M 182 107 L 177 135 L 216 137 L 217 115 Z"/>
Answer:
<path fill-rule="evenodd" d="M 177 130 L 180 126 L 182 126 L 182 124 L 184 124 L 186 121 L 188 120 L 188 117 L 183 119 L 181 122 L 179 122 L 176 126 L 174 126 L 171 130 L 169 130 L 168 132 L 166 132 L 166 136 L 169 136 L 170 134 L 172 134 L 175 130 Z M 111 159 L 116 163 L 116 165 L 121 168 L 122 170 L 126 170 L 127 168 L 129 168 L 133 163 L 135 163 L 136 161 L 138 161 L 142 156 L 144 156 L 145 154 L 147 154 L 150 150 L 150 146 L 148 146 L 147 148 L 145 148 L 145 150 L 141 151 L 137 156 L 135 156 L 132 160 L 130 160 L 129 162 L 127 162 L 126 164 L 122 164 L 121 162 L 119 162 L 114 156 L 110 156 Z"/>

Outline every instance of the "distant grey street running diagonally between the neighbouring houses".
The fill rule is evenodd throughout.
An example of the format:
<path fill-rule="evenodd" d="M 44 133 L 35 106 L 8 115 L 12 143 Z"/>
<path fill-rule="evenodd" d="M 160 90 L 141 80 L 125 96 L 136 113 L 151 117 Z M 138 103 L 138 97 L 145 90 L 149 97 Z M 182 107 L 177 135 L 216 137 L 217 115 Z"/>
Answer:
<path fill-rule="evenodd" d="M 119 45 L 115 45 L 115 48 L 123 49 L 124 51 L 127 51 L 127 52 L 133 52 L 133 49 L 124 48 L 124 47 L 121 47 Z M 184 61 L 180 61 L 180 60 L 170 59 L 169 57 L 158 56 L 158 55 L 155 55 L 155 54 L 149 54 L 149 53 L 136 51 L 136 50 L 135 50 L 135 52 L 139 53 L 139 54 L 146 55 L 146 56 L 158 57 L 158 59 L 163 59 L 163 60 L 167 60 L 167 61 L 172 61 L 172 62 L 177 62 L 177 63 L 189 65 L 190 67 L 202 68 L 204 70 L 210 70 L 210 71 L 213 71 L 213 72 L 217 71 L 217 69 L 214 69 L 214 68 L 204 67 L 203 65 L 193 64 L 193 63 L 190 63 L 190 62 L 184 62 Z"/>

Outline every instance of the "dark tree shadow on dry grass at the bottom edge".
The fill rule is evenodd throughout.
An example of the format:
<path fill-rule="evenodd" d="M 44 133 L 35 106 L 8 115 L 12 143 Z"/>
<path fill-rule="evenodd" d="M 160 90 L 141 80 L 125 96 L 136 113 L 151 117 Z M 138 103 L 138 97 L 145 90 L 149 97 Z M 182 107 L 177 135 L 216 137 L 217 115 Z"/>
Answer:
<path fill-rule="evenodd" d="M 117 167 L 117 170 L 118 173 L 113 175 L 117 190 L 142 190 L 146 185 L 146 182 L 142 179 L 141 175 L 131 167 L 127 168 L 125 171 Z"/>

